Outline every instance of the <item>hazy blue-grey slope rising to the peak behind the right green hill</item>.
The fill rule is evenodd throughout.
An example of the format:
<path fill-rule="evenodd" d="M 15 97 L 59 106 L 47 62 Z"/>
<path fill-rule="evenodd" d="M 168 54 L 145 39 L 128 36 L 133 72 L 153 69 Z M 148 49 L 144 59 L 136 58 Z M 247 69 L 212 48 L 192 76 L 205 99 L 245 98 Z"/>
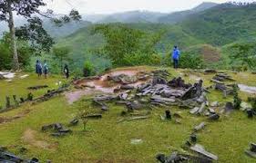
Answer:
<path fill-rule="evenodd" d="M 191 10 L 175 12 L 168 15 L 164 15 L 159 17 L 158 22 L 163 24 L 176 24 L 182 22 L 186 19 L 190 14 L 196 14 L 202 12 L 204 10 L 210 9 L 211 7 L 215 6 L 215 3 L 202 3 L 201 5 L 192 8 Z"/>

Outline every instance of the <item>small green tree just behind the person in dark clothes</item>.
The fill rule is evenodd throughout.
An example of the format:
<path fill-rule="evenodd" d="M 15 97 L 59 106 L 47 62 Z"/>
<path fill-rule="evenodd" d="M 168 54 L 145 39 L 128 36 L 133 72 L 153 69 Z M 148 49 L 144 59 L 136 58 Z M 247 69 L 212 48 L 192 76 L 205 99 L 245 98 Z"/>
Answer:
<path fill-rule="evenodd" d="M 56 59 L 60 62 L 61 70 L 63 70 L 63 61 L 67 59 L 70 49 L 68 47 L 55 47 L 53 48 L 53 54 Z"/>

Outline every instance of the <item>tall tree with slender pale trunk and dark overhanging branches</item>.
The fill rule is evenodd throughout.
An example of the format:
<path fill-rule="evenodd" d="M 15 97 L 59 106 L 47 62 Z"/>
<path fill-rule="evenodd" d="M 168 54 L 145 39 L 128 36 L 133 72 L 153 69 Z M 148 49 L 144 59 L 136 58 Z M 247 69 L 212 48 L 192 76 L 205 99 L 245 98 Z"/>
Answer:
<path fill-rule="evenodd" d="M 48 10 L 46 14 L 42 14 L 39 10 L 40 6 L 44 6 L 44 0 L 1 0 L 0 1 L 0 21 L 5 21 L 9 26 L 11 35 L 11 50 L 13 53 L 13 68 L 19 69 L 18 53 L 15 40 L 15 21 L 14 13 L 25 18 L 31 18 L 34 14 L 40 14 L 47 18 L 53 19 L 56 24 L 64 24 L 71 20 L 80 20 L 81 16 L 77 11 L 72 10 L 69 15 L 55 18 L 53 11 Z"/>

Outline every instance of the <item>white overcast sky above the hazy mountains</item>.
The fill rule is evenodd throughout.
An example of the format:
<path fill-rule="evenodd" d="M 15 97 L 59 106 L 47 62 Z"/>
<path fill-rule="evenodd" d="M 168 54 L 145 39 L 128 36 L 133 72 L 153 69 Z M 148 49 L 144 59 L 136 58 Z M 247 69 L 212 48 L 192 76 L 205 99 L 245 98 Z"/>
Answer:
<path fill-rule="evenodd" d="M 66 14 L 72 8 L 77 9 L 81 14 L 112 14 L 132 10 L 169 13 L 190 9 L 202 2 L 227 1 L 230 0 L 46 0 L 47 7 L 59 14 Z"/>

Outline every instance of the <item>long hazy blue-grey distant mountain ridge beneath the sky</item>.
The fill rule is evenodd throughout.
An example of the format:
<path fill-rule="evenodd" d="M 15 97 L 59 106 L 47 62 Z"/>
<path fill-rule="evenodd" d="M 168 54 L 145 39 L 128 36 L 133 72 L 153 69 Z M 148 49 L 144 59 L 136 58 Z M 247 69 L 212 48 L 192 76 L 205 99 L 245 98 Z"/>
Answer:
<path fill-rule="evenodd" d="M 44 26 L 49 34 L 55 38 L 66 37 L 69 34 L 76 32 L 82 27 L 86 27 L 89 24 L 105 24 L 105 23 L 163 23 L 163 24 L 176 24 L 186 19 L 190 14 L 195 14 L 200 11 L 209 9 L 210 7 L 217 5 L 215 3 L 202 3 L 197 7 L 172 14 L 163 14 L 159 12 L 150 11 L 130 11 L 117 14 L 85 14 L 83 15 L 83 21 L 79 23 L 65 24 L 62 27 L 56 27 L 49 20 L 44 20 Z M 24 18 L 16 17 L 15 26 L 20 26 L 26 23 Z M 0 37 L 3 32 L 8 31 L 7 24 L 0 22 Z"/>

